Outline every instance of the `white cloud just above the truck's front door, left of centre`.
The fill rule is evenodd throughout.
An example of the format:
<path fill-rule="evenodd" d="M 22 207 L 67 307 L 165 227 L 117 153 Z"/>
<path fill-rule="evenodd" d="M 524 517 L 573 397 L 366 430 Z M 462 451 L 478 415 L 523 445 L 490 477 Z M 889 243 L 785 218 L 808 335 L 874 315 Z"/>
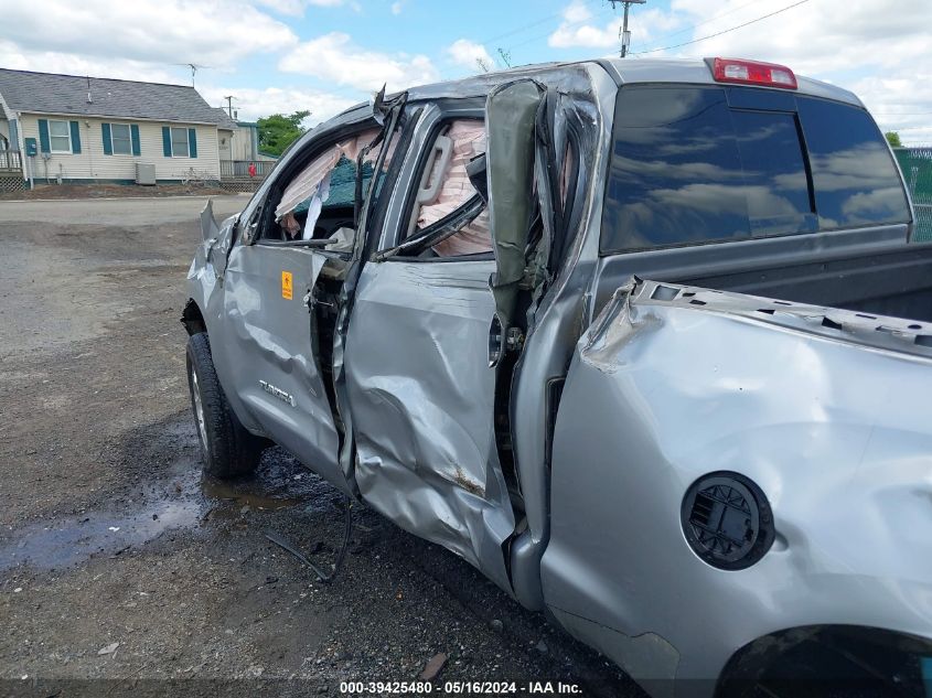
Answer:
<path fill-rule="evenodd" d="M 353 44 L 349 34 L 331 32 L 290 50 L 278 63 L 280 71 L 301 73 L 375 90 L 383 84 L 389 90 L 432 83 L 440 78 L 425 55 L 387 54 L 366 51 Z"/>

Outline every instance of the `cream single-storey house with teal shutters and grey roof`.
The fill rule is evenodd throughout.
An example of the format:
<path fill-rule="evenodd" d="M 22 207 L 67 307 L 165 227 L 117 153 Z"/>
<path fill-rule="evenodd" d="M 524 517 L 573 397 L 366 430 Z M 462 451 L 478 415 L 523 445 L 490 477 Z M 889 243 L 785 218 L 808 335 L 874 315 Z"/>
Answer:
<path fill-rule="evenodd" d="M 0 68 L 0 150 L 38 182 L 129 183 L 137 163 L 160 182 L 218 180 L 236 129 L 185 85 Z"/>

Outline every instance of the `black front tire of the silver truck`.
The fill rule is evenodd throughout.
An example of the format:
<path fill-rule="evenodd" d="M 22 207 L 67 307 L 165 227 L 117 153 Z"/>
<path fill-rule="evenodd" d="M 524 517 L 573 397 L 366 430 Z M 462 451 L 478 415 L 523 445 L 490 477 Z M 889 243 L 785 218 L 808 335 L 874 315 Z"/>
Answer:
<path fill-rule="evenodd" d="M 191 411 L 204 472 L 224 480 L 248 475 L 259 464 L 265 439 L 249 433 L 233 412 L 217 379 L 206 333 L 188 337 L 186 354 Z"/>

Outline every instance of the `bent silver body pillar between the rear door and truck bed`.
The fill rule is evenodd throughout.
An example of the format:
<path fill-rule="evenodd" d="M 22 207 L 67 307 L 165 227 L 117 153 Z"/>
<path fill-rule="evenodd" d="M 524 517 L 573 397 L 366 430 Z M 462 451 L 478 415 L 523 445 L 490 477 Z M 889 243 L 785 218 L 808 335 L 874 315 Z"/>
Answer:
<path fill-rule="evenodd" d="M 566 375 L 576 341 L 585 330 L 581 320 L 586 316 L 592 265 L 598 259 L 598 212 L 604 194 L 604 189 L 592 182 L 611 152 L 609 117 L 614 112 L 610 78 L 601 68 L 576 67 L 557 88 L 559 98 L 551 125 L 555 151 L 565 152 L 570 130 L 579 136 L 579 176 L 569 193 L 566 239 L 554 240 L 551 248 L 554 257 L 564 259 L 563 267 L 539 305 L 531 309 L 533 318 L 528 318 L 527 340 L 515 368 L 511 406 L 512 448 L 527 516 L 527 529 L 511 547 L 511 571 L 515 595 L 532 609 L 544 605 L 539 561 L 550 525 L 551 416 L 547 400 L 540 399 L 539 386 Z"/>

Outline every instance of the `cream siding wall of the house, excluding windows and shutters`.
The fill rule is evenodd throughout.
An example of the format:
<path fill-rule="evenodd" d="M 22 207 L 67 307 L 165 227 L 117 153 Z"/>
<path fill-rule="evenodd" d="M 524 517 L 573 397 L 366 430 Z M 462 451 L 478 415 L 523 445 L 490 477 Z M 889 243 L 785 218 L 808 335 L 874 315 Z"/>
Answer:
<path fill-rule="evenodd" d="M 156 165 L 156 179 L 180 180 L 193 168 L 195 176 L 219 179 L 217 153 L 217 127 L 194 124 L 159 124 L 154 121 L 129 121 L 126 119 L 38 116 L 23 114 L 20 119 L 22 137 L 39 141 L 39 119 L 63 119 L 81 125 L 81 153 L 51 153 L 47 161 L 49 178 L 54 180 L 61 171 L 65 180 L 135 180 L 136 163 L 151 162 Z M 105 155 L 101 124 L 136 124 L 139 126 L 140 155 Z M 165 158 L 162 152 L 162 127 L 193 128 L 197 132 L 196 158 Z M 45 180 L 45 161 L 42 153 L 35 158 L 35 179 Z"/>

